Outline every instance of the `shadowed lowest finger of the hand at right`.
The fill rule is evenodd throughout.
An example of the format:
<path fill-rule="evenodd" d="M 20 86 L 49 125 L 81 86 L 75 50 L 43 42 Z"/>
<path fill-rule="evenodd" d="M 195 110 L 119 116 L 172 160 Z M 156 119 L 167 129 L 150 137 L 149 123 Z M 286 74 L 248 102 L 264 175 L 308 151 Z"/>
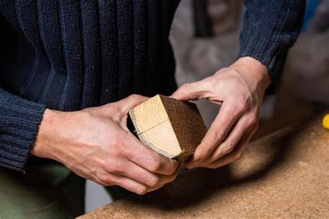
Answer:
<path fill-rule="evenodd" d="M 220 159 L 217 159 L 217 161 L 212 162 L 211 164 L 208 164 L 207 168 L 219 168 L 221 166 L 225 166 L 227 164 L 232 163 L 233 161 L 236 161 L 242 157 L 244 154 L 244 150 L 246 150 L 246 147 L 248 146 L 248 143 L 253 136 L 253 133 L 255 133 L 255 130 L 257 128 L 251 128 L 251 130 L 248 130 L 242 137 L 242 139 L 237 143 L 237 146 L 233 150 L 233 152 L 230 152 L 228 155 L 225 155 L 221 157 Z"/>

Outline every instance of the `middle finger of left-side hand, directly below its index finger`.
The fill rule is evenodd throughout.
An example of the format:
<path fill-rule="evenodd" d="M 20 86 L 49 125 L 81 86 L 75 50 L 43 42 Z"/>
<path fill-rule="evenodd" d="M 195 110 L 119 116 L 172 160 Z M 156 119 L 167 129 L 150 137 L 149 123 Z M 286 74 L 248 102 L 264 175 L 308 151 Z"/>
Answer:
<path fill-rule="evenodd" d="M 159 185 L 167 184 L 168 182 L 173 181 L 178 175 L 178 170 L 171 175 L 162 175 L 151 173 L 130 161 L 127 161 L 126 164 L 127 165 L 121 174 L 149 187 L 157 187 Z"/>

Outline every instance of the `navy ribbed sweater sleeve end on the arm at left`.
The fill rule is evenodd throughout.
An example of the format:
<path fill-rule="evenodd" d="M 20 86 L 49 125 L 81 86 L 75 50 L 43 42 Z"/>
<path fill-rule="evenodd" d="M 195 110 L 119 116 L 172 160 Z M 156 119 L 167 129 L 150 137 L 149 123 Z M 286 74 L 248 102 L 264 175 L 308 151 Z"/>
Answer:
<path fill-rule="evenodd" d="M 45 108 L 0 88 L 0 166 L 24 170 Z"/>

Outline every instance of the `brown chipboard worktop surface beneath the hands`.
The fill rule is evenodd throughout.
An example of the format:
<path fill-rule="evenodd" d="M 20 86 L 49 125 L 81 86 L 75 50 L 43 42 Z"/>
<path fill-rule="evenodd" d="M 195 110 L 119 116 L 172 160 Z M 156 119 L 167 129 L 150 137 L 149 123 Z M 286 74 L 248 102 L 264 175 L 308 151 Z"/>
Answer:
<path fill-rule="evenodd" d="M 329 131 L 321 116 L 254 141 L 230 166 L 187 171 L 83 218 L 329 218 Z"/>

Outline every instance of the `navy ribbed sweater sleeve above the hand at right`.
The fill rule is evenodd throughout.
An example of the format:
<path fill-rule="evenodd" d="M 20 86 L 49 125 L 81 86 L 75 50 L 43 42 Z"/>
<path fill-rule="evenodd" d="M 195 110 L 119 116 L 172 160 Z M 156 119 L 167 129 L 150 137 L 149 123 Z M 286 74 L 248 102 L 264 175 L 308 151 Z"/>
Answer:
<path fill-rule="evenodd" d="M 301 31 L 305 0 L 244 0 L 246 12 L 238 58 L 255 58 L 269 69 L 274 94 L 280 82 L 289 48 Z"/>

